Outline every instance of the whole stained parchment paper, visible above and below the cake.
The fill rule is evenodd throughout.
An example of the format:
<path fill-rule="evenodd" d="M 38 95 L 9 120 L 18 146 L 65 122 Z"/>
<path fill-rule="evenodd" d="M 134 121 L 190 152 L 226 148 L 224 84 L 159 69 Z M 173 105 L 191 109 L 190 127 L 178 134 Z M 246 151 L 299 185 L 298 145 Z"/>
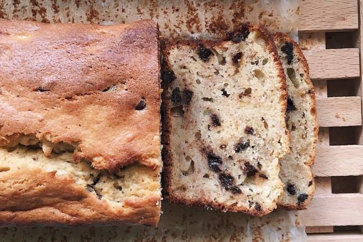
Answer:
<path fill-rule="evenodd" d="M 297 40 L 299 0 L 0 0 L 0 18 L 46 23 L 118 24 L 143 18 L 159 23 L 164 38 L 221 38 L 242 22 L 261 23 Z M 262 218 L 162 203 L 158 228 L 1 228 L 0 242 L 275 242 L 306 241 L 296 212 Z"/>

